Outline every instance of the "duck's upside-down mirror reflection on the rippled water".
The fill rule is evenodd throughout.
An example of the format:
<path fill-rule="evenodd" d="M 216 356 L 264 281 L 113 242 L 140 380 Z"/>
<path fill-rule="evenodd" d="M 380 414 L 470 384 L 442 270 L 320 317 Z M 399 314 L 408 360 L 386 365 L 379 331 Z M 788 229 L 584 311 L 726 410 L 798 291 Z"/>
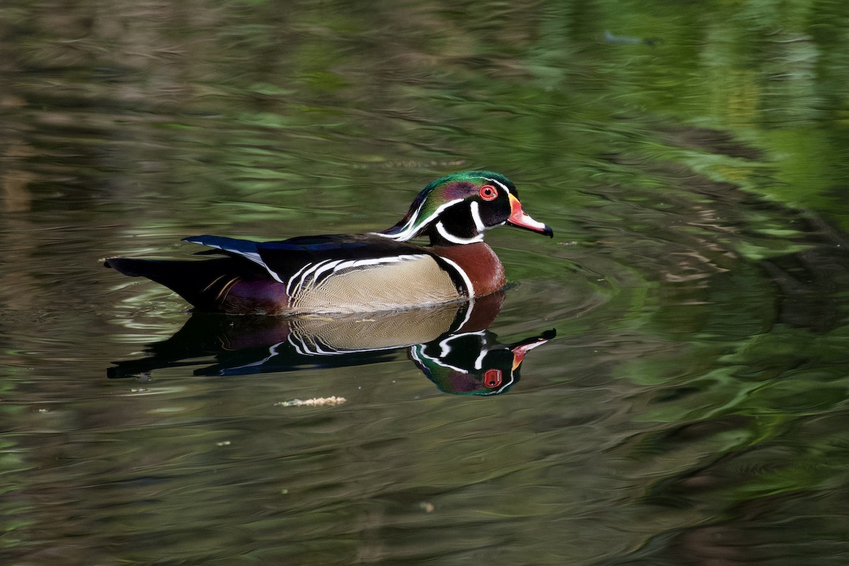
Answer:
<path fill-rule="evenodd" d="M 395 360 L 407 350 L 416 367 L 445 393 L 498 395 L 519 381 L 528 351 L 554 330 L 514 344 L 486 328 L 501 311 L 503 293 L 454 305 L 356 317 L 233 317 L 194 313 L 171 338 L 149 345 L 146 357 L 115 361 L 109 378 L 149 378 L 166 367 L 215 363 L 194 375 L 227 376 L 350 367 Z"/>

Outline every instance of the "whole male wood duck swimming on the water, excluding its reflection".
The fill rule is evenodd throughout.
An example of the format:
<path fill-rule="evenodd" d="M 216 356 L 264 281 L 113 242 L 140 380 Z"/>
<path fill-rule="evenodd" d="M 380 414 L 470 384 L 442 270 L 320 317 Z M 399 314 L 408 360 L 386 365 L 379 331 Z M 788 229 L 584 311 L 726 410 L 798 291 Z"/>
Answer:
<path fill-rule="evenodd" d="M 554 237 L 528 216 L 507 177 L 462 171 L 436 179 L 395 226 L 367 234 L 302 236 L 276 242 L 195 236 L 207 261 L 109 258 L 104 265 L 148 277 L 200 311 L 298 315 L 437 305 L 491 294 L 504 268 L 483 236 L 509 225 Z M 430 244 L 409 243 L 430 238 Z"/>

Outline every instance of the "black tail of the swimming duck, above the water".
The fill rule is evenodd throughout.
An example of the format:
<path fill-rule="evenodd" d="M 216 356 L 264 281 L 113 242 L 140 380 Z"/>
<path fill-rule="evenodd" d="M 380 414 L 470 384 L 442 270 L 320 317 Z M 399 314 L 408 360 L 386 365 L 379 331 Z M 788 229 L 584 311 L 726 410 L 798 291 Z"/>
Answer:
<path fill-rule="evenodd" d="M 201 311 L 221 311 L 228 289 L 240 281 L 268 278 L 250 261 L 222 257 L 205 261 L 133 260 L 110 257 L 104 266 L 130 277 L 165 285 Z"/>

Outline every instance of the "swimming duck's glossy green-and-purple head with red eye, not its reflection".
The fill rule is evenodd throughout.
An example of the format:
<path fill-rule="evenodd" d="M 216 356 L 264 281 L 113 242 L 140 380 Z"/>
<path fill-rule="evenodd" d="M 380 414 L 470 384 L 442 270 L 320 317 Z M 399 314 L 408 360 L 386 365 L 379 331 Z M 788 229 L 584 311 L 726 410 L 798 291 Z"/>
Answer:
<path fill-rule="evenodd" d="M 507 177 L 460 171 L 431 182 L 401 221 L 377 234 L 399 242 L 427 236 L 431 245 L 475 244 L 486 230 L 505 224 L 554 238 L 550 227 L 527 215 Z"/>

